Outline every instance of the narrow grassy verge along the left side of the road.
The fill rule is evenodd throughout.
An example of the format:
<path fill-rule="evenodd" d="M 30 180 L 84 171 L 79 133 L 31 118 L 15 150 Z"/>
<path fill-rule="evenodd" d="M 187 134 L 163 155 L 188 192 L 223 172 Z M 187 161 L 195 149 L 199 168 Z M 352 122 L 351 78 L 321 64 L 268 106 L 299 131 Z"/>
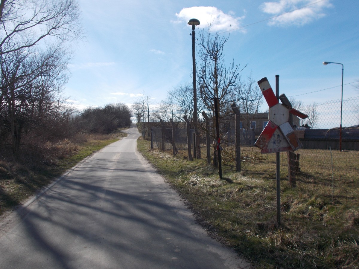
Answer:
<path fill-rule="evenodd" d="M 0 215 L 21 204 L 85 157 L 125 136 L 126 133 L 116 132 L 87 136 L 79 143 L 61 141 L 48 146 L 48 151 L 55 153 L 47 158 L 51 163 L 47 160 L 46 164 L 0 160 Z"/>

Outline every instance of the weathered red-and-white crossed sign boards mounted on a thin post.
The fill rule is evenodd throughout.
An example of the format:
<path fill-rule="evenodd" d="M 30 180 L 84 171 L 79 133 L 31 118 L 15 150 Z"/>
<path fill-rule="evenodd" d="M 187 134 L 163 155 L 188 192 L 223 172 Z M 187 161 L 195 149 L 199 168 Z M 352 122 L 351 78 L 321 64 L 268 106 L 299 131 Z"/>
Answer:
<path fill-rule="evenodd" d="M 269 106 L 269 122 L 254 143 L 261 153 L 298 150 L 302 147 L 292 126 L 289 124 L 289 113 L 302 119 L 308 115 L 294 109 L 285 94 L 280 95 L 279 103 L 266 77 L 258 81 L 258 85 Z"/>

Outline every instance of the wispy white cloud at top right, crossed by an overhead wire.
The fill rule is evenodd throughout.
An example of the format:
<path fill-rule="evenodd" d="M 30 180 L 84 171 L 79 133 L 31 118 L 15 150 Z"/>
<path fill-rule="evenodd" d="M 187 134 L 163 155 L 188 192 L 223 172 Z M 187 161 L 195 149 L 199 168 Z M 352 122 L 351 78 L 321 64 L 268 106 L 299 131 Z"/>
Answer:
<path fill-rule="evenodd" d="M 285 13 L 270 19 L 269 25 L 300 26 L 324 17 L 326 15 L 324 10 L 331 7 L 330 0 L 320 2 L 318 0 L 279 0 L 276 2 L 265 2 L 259 8 L 264 13 L 271 15 Z"/>

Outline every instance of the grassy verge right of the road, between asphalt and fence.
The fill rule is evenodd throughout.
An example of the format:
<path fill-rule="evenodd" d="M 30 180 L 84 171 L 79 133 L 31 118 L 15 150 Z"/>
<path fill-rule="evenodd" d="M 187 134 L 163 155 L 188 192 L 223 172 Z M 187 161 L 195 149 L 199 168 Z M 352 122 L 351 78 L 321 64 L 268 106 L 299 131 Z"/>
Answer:
<path fill-rule="evenodd" d="M 340 183 L 334 195 L 317 181 L 290 188 L 281 182 L 281 222 L 276 226 L 276 183 L 260 173 L 218 172 L 205 160 L 189 162 L 183 155 L 140 152 L 186 198 L 203 225 L 256 268 L 358 268 L 358 184 Z M 246 164 L 250 166 L 250 164 Z M 348 184 L 347 184 L 348 183 Z"/>

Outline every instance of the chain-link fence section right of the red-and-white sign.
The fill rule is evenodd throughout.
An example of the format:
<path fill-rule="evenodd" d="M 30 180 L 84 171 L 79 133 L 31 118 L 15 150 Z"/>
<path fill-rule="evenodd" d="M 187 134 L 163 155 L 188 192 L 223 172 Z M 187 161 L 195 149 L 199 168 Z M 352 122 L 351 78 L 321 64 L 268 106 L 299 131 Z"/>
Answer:
<path fill-rule="evenodd" d="M 304 130 L 303 148 L 296 152 L 299 179 L 338 187 L 354 183 L 359 179 L 359 97 L 317 104 L 315 109 L 317 117 Z"/>

